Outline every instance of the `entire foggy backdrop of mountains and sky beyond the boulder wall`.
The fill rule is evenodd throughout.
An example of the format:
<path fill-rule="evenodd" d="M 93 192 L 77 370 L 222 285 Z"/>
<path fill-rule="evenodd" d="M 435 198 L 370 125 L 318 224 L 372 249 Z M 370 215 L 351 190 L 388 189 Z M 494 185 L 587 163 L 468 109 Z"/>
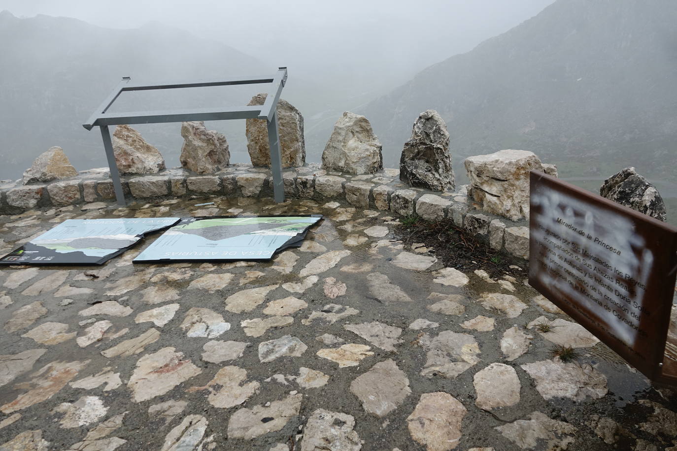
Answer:
<path fill-rule="evenodd" d="M 569 176 L 624 166 L 675 174 L 672 0 L 5 0 L 0 9 L 0 178 L 18 178 L 52 145 L 79 169 L 104 166 L 97 129 L 81 124 L 121 76 L 192 80 L 278 66 L 289 70 L 282 97 L 305 116 L 308 161 L 320 161 L 349 110 L 367 116 L 385 163 L 397 166 L 414 119 L 432 108 L 447 122 L 457 172 L 465 156 L 518 148 Z M 260 90 L 125 94 L 114 110 L 242 105 Z M 233 162 L 248 161 L 244 121 L 207 126 L 225 133 Z M 179 164 L 180 124 L 137 128 Z"/>

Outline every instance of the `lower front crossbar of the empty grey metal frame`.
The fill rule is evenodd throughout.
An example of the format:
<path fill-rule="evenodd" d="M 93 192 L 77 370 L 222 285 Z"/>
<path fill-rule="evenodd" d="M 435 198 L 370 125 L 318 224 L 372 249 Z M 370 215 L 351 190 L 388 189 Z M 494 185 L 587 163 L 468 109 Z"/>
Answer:
<path fill-rule="evenodd" d="M 143 111 L 100 114 L 96 125 L 159 124 L 162 122 L 187 122 L 191 120 L 252 119 L 261 114 L 261 105 L 236 108 L 197 108 L 192 110 Z"/>

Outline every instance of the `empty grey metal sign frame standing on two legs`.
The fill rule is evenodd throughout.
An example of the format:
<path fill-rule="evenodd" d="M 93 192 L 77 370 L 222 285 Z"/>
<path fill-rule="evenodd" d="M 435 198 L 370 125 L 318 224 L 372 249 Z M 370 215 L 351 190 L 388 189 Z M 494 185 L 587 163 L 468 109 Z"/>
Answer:
<path fill-rule="evenodd" d="M 273 192 L 276 202 L 284 202 L 284 185 L 282 185 L 282 158 L 280 156 L 280 134 L 278 127 L 278 100 L 287 80 L 287 68 L 279 68 L 269 77 L 229 78 L 225 80 L 202 80 L 198 82 L 175 82 L 163 85 L 146 85 L 132 83 L 131 77 L 123 77 L 95 112 L 83 124 L 87 130 L 95 126 L 101 129 L 104 141 L 110 178 L 113 181 L 115 197 L 119 205 L 124 206 L 125 193 L 118 166 L 115 162 L 113 145 L 110 140 L 109 125 L 121 124 L 157 124 L 161 122 L 185 122 L 191 120 L 228 120 L 228 119 L 265 119 L 268 126 L 268 143 L 270 146 L 270 167 L 273 173 Z M 111 105 L 125 91 L 148 91 L 152 89 L 179 89 L 229 85 L 253 85 L 270 83 L 271 91 L 263 105 L 245 105 L 233 108 L 189 108 L 187 110 L 141 111 L 125 113 L 109 113 Z"/>

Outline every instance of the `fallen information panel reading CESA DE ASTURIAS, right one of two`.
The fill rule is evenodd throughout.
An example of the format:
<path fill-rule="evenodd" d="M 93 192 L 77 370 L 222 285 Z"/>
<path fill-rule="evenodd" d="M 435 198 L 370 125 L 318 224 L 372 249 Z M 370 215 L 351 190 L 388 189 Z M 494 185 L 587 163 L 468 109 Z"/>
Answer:
<path fill-rule="evenodd" d="M 300 246 L 320 219 L 321 214 L 185 218 L 132 261 L 270 260 L 280 250 Z"/>

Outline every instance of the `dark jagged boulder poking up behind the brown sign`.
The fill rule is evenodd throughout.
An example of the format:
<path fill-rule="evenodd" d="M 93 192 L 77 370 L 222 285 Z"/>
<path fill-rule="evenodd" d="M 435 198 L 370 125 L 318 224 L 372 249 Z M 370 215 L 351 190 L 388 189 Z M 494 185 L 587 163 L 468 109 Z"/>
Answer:
<path fill-rule="evenodd" d="M 632 208 L 656 219 L 665 221 L 665 203 L 658 190 L 635 168 L 625 168 L 609 177 L 600 187 L 602 197 L 611 199 L 626 207 Z"/>

